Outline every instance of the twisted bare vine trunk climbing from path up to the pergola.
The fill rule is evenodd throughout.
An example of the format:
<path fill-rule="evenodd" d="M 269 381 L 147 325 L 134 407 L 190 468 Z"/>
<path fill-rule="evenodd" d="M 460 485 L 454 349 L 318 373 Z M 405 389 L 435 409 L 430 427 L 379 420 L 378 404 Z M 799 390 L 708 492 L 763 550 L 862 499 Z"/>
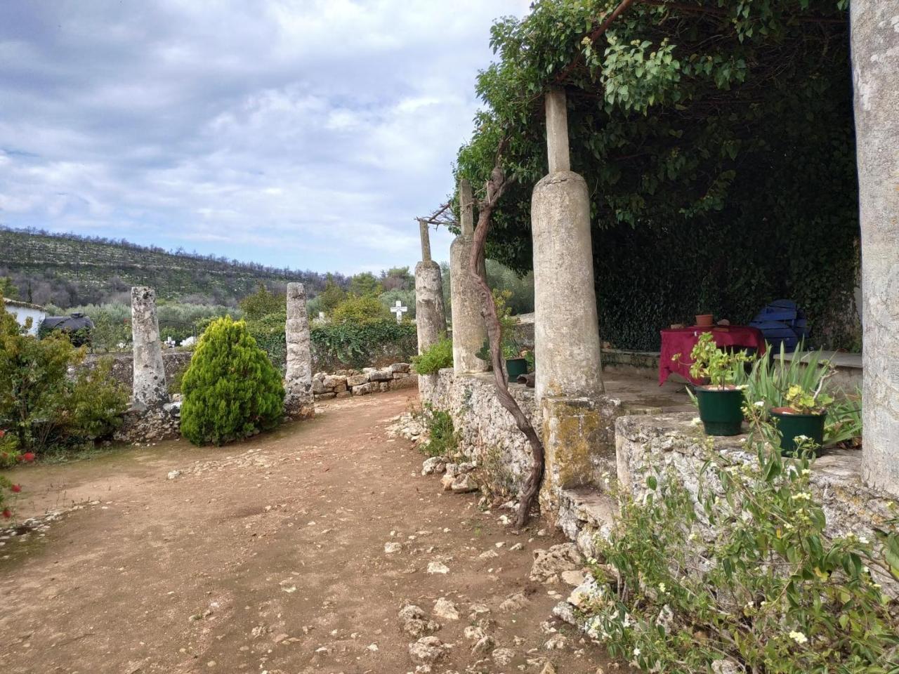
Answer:
<path fill-rule="evenodd" d="M 487 285 L 487 279 L 483 274 L 481 265 L 478 263 L 484 255 L 484 247 L 487 241 L 487 234 L 490 231 L 490 218 L 493 215 L 494 208 L 503 196 L 503 192 L 508 186 L 505 174 L 502 168 L 503 150 L 506 141 L 500 143 L 496 151 L 496 164 L 490 180 L 486 184 L 486 199 L 481 201 L 477 214 L 477 227 L 475 229 L 475 239 L 472 245 L 471 259 L 468 262 L 468 271 L 476 279 L 477 286 L 481 292 L 481 302 L 483 308 L 481 310 L 484 315 L 484 322 L 487 328 L 487 337 L 490 341 L 490 359 L 494 366 L 494 382 L 496 384 L 496 395 L 500 400 L 500 404 L 512 414 L 515 424 L 519 430 L 524 433 L 530 442 L 531 450 L 531 466 L 528 480 L 521 492 L 521 502 L 518 507 L 518 517 L 515 522 L 517 528 L 523 528 L 530 518 L 530 510 L 534 505 L 534 500 L 540 491 L 540 483 L 543 481 L 543 473 L 545 469 L 545 456 L 543 451 L 543 443 L 531 425 L 528 417 L 521 412 L 521 407 L 515 402 L 512 394 L 509 393 L 509 384 L 506 376 L 505 362 L 503 361 L 503 349 L 500 335 L 500 319 L 496 313 L 496 303 L 494 302 L 493 293 Z"/>

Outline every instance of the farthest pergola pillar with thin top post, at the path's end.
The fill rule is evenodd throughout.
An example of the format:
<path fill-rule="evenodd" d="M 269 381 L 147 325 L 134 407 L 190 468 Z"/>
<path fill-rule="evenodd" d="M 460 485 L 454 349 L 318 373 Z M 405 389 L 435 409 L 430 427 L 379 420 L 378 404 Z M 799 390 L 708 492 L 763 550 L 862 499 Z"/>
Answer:
<path fill-rule="evenodd" d="M 418 333 L 418 352 L 422 353 L 446 334 L 447 319 L 443 306 L 441 265 L 431 259 L 428 223 L 421 219 L 418 226 L 422 235 L 422 262 L 415 265 L 415 327 Z M 418 377 L 418 392 L 423 401 L 431 402 L 436 379 L 436 375 Z"/>

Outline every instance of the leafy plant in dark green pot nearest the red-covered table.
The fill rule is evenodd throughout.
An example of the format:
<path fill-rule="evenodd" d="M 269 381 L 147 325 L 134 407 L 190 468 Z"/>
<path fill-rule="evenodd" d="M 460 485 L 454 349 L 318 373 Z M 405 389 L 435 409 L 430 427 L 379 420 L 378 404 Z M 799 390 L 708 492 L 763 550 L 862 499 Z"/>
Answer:
<path fill-rule="evenodd" d="M 743 423 L 743 389 L 734 385 L 737 368 L 750 357 L 720 350 L 712 333 L 702 333 L 690 352 L 690 376 L 708 384 L 695 387 L 699 419 L 707 435 L 739 435 Z M 672 360 L 681 359 L 677 353 Z"/>

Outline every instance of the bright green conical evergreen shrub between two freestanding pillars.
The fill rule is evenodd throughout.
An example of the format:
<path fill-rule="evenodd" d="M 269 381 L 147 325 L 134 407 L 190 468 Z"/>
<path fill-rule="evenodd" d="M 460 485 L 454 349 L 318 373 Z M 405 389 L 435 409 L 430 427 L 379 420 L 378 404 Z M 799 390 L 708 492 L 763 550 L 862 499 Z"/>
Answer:
<path fill-rule="evenodd" d="M 221 445 L 273 428 L 284 413 L 280 373 L 243 321 L 210 324 L 181 384 L 181 432 L 195 445 Z"/>

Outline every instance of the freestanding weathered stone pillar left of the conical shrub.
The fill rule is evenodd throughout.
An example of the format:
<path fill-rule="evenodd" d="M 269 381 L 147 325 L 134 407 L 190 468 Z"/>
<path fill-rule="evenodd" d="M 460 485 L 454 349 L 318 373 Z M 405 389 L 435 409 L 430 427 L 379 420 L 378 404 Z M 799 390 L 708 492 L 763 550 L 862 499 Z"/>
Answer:
<path fill-rule="evenodd" d="M 156 290 L 131 288 L 131 341 L 134 349 L 132 395 L 135 404 L 158 407 L 168 403 L 163 350 L 156 319 Z"/>

